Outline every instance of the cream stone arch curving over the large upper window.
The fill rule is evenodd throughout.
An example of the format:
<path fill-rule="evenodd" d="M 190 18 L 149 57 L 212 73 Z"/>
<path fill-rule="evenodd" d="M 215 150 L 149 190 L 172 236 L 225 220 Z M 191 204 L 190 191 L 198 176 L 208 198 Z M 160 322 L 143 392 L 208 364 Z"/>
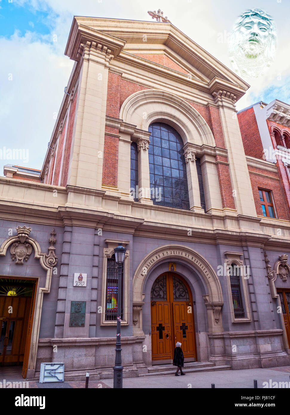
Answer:
<path fill-rule="evenodd" d="M 148 131 L 154 121 L 169 123 L 187 142 L 215 146 L 207 122 L 190 104 L 176 95 L 159 90 L 143 90 L 130 95 L 120 109 L 120 118 Z"/>

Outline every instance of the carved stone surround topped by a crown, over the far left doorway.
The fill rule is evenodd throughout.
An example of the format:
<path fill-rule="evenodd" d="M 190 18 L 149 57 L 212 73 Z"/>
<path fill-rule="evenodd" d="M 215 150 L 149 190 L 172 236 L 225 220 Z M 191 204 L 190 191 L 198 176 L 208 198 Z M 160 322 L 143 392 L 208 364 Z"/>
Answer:
<path fill-rule="evenodd" d="M 57 257 L 54 253 L 55 247 L 54 244 L 56 243 L 56 239 L 54 235 L 54 229 L 51 232 L 51 237 L 49 238 L 49 253 L 46 254 L 45 252 L 41 252 L 41 248 L 39 243 L 36 239 L 29 237 L 31 232 L 30 228 L 27 227 L 17 227 L 17 236 L 11 236 L 7 238 L 0 247 L 0 256 L 5 256 L 7 253 L 7 249 L 15 243 L 25 243 L 31 246 L 34 249 L 34 258 L 39 259 L 39 263 L 41 267 L 46 271 L 46 281 L 45 286 L 40 287 L 39 281 L 37 283 L 36 288 L 36 301 L 35 301 L 35 310 L 34 310 L 34 318 L 32 323 L 32 335 L 31 335 L 31 342 L 30 342 L 30 349 L 29 349 L 29 356 L 27 361 L 27 371 L 29 371 L 29 378 L 34 376 L 35 366 L 36 366 L 36 359 L 37 359 L 37 346 L 38 346 L 38 339 L 39 339 L 39 329 L 40 329 L 40 320 L 41 320 L 41 308 L 42 308 L 42 300 L 43 294 L 50 292 L 51 286 L 51 277 L 54 266 L 57 264 Z M 13 258 L 13 255 L 12 255 Z M 19 263 L 21 266 L 21 263 Z M 25 276 L 24 276 L 25 278 Z M 24 362 L 25 364 L 25 362 Z"/>

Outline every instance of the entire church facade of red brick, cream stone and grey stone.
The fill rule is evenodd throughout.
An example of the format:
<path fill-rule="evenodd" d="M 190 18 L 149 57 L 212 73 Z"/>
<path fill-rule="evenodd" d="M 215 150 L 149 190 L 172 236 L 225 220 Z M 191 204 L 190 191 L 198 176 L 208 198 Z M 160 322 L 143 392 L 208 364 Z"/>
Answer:
<path fill-rule="evenodd" d="M 74 17 L 65 54 L 41 182 L 0 178 L 0 364 L 112 377 L 121 242 L 125 377 L 176 341 L 210 369 L 289 365 L 289 209 L 275 164 L 245 155 L 249 85 L 170 22 Z"/>

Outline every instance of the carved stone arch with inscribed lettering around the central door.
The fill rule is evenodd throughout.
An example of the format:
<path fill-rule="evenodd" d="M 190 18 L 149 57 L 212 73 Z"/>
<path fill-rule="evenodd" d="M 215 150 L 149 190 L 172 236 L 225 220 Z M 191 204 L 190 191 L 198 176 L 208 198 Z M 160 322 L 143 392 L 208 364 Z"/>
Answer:
<path fill-rule="evenodd" d="M 133 276 L 133 308 L 135 305 L 144 304 L 143 288 L 145 280 L 149 276 L 151 269 L 153 269 L 157 264 L 169 261 L 170 259 L 174 259 L 175 261 L 182 259 L 197 271 L 207 292 L 207 294 L 203 295 L 203 298 L 207 308 L 208 330 L 209 332 L 224 331 L 221 316 L 221 309 L 224 304 L 224 299 L 219 278 L 210 263 L 202 255 L 194 249 L 188 248 L 184 245 L 163 245 L 149 252 L 149 254 L 144 257 Z M 139 319 L 137 319 L 135 315 L 135 320 L 139 320 L 139 325 L 136 327 L 135 335 L 141 335 L 141 310 Z"/>

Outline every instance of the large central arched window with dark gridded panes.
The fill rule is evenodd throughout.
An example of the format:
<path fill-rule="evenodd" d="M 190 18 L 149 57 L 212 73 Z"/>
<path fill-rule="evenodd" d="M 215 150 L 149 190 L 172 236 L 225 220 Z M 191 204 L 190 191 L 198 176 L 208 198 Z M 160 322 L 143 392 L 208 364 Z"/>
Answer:
<path fill-rule="evenodd" d="M 151 199 L 155 205 L 189 209 L 183 141 L 170 125 L 149 126 L 149 171 Z"/>

